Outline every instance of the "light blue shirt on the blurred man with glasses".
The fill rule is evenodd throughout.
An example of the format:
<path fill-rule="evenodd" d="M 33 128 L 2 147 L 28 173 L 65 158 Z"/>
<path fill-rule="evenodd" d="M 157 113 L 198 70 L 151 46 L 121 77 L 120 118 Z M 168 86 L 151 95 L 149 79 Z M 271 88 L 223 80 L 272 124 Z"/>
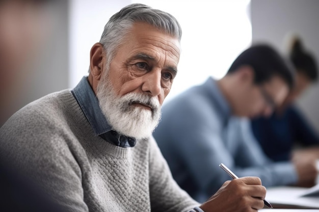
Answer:
<path fill-rule="evenodd" d="M 179 186 L 199 202 L 231 179 L 220 163 L 238 177 L 260 177 L 265 187 L 297 182 L 294 165 L 273 163 L 252 136 L 248 120 L 231 115 L 212 78 L 164 105 L 153 136 Z"/>

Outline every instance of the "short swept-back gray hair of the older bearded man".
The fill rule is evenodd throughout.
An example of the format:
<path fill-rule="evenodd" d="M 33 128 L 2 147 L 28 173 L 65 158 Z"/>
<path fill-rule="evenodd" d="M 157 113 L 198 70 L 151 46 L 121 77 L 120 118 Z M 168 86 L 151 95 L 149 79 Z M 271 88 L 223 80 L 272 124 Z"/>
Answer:
<path fill-rule="evenodd" d="M 107 52 L 107 67 L 110 66 L 118 48 L 123 43 L 133 24 L 148 23 L 160 31 L 181 39 L 181 27 L 171 14 L 143 4 L 130 4 L 115 13 L 104 26 L 100 43 Z"/>

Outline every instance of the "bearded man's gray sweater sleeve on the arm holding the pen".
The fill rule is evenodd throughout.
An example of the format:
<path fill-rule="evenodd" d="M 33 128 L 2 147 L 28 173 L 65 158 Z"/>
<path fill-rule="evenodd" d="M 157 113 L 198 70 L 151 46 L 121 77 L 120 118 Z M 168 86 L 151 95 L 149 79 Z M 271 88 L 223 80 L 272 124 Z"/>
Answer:
<path fill-rule="evenodd" d="M 189 211 L 199 205 L 176 184 L 153 137 L 149 158 L 151 211 Z"/>

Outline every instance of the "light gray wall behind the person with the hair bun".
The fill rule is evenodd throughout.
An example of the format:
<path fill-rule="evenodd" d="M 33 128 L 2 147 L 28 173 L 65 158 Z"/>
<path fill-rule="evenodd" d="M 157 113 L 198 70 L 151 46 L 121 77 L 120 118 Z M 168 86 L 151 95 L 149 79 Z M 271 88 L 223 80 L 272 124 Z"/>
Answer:
<path fill-rule="evenodd" d="M 285 52 L 286 35 L 297 33 L 319 67 L 318 11 L 317 0 L 251 0 L 253 42 L 268 41 Z M 319 83 L 307 90 L 298 105 L 319 132 Z"/>

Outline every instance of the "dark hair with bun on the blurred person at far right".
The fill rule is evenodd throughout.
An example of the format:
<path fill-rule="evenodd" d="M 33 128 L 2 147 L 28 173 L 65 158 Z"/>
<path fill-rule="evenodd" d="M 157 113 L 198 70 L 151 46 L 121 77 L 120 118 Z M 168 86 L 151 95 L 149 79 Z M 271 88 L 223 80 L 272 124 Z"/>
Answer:
<path fill-rule="evenodd" d="M 302 45 L 300 38 L 295 37 L 291 44 L 289 58 L 294 64 L 296 71 L 303 73 L 311 81 L 318 79 L 318 70 L 313 55 L 306 51 Z"/>

